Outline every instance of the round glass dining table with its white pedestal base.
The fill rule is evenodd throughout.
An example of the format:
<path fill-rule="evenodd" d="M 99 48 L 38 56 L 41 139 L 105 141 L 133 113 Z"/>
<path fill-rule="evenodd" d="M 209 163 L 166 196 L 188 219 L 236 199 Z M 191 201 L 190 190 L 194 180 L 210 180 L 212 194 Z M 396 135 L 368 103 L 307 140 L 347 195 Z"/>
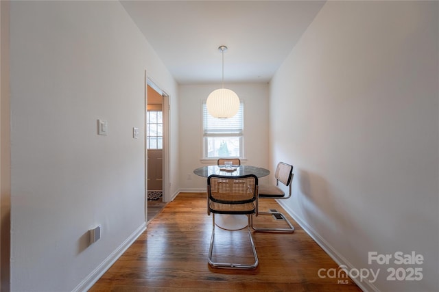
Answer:
<path fill-rule="evenodd" d="M 257 177 L 263 177 L 268 176 L 270 170 L 251 165 L 235 165 L 230 169 L 226 169 L 223 165 L 207 165 L 193 170 L 193 173 L 204 177 L 209 177 L 212 174 L 224 176 L 254 174 Z M 239 230 L 248 226 L 248 217 L 246 215 L 217 214 L 215 224 L 226 230 Z"/>

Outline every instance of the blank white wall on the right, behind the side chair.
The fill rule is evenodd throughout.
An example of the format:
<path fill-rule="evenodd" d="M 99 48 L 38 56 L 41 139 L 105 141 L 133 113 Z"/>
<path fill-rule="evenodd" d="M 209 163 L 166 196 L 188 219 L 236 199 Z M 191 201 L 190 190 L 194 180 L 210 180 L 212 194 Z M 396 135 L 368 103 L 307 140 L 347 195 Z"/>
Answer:
<path fill-rule="evenodd" d="M 381 269 L 368 290 L 439 290 L 438 27 L 436 1 L 329 1 L 272 79 L 270 163 L 295 166 L 286 207 L 340 263 Z M 425 262 L 368 264 L 398 251 Z"/>

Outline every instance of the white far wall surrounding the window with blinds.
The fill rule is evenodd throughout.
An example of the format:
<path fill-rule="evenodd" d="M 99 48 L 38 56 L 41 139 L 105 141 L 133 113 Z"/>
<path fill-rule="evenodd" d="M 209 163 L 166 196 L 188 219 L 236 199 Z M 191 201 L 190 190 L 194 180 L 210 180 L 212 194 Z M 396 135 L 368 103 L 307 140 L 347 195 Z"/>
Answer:
<path fill-rule="evenodd" d="M 202 159 L 202 101 L 221 85 L 180 85 L 180 187 L 181 191 L 205 191 L 206 178 L 195 168 L 216 164 Z M 245 158 L 243 164 L 268 167 L 268 84 L 226 84 L 244 101 Z"/>

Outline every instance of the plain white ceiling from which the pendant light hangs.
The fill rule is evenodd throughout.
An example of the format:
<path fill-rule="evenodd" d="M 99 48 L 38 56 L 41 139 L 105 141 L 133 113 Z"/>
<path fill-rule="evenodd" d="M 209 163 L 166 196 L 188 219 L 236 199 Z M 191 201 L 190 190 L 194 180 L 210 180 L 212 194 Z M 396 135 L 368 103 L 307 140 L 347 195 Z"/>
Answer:
<path fill-rule="evenodd" d="M 268 82 L 324 1 L 121 1 L 180 84 Z"/>

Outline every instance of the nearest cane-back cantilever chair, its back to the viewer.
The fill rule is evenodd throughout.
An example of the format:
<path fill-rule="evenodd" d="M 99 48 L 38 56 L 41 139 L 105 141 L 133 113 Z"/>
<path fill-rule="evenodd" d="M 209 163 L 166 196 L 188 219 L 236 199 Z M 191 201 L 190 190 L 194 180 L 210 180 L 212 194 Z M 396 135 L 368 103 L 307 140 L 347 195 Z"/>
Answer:
<path fill-rule="evenodd" d="M 208 262 L 211 267 L 228 269 L 256 269 L 259 264 L 256 248 L 250 230 L 250 215 L 257 211 L 258 178 L 254 174 L 246 176 L 219 176 L 213 174 L 207 178 L 207 214 L 212 213 L 212 237 Z M 212 259 L 215 241 L 215 214 L 245 214 L 248 217 L 248 237 L 252 248 L 254 263 L 220 263 Z M 233 232 L 233 231 L 232 231 Z M 234 246 L 228 246 L 224 254 L 229 254 Z M 221 252 L 216 252 L 221 254 Z"/>

